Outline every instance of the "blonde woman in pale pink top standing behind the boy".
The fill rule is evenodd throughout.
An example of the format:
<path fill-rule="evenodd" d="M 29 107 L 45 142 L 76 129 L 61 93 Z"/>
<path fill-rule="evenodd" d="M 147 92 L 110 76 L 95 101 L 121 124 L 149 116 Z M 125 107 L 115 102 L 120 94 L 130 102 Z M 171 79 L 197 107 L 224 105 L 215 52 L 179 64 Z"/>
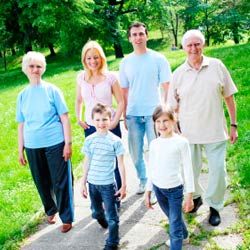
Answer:
<path fill-rule="evenodd" d="M 121 137 L 120 117 L 124 102 L 121 89 L 114 73 L 108 71 L 106 56 L 96 41 L 87 42 L 82 49 L 82 70 L 77 76 L 76 117 L 78 124 L 84 129 L 85 137 L 96 131 L 91 112 L 97 103 L 107 105 L 112 110 L 110 131 Z M 112 106 L 113 97 L 117 109 Z M 82 119 L 84 106 L 84 119 Z M 115 178 L 117 188 L 121 187 L 121 179 L 116 163 Z M 119 204 L 118 204 L 119 208 Z"/>

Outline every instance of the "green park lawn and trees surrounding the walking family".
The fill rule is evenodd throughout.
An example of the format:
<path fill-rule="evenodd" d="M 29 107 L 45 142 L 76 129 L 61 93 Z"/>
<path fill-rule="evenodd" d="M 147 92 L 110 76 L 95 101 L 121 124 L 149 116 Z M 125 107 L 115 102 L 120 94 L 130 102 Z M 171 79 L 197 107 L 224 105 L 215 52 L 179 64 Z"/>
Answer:
<path fill-rule="evenodd" d="M 227 166 L 240 220 L 231 232 L 240 233 L 250 245 L 250 2 L 248 0 L 2 0 L 0 3 L 0 249 L 19 249 L 20 242 L 43 220 L 41 203 L 29 168 L 18 164 L 15 105 L 27 84 L 21 72 L 25 52 L 46 55 L 43 79 L 62 89 L 72 123 L 73 167 L 81 175 L 83 132 L 76 124 L 74 101 L 76 75 L 82 69 L 81 48 L 86 41 L 100 42 L 110 70 L 118 70 L 121 58 L 132 51 L 126 30 L 132 21 L 146 23 L 148 47 L 164 54 L 172 70 L 185 54 L 183 33 L 199 28 L 206 37 L 205 54 L 221 59 L 239 93 L 239 140 L 228 145 Z M 172 49 L 171 49 L 172 48 Z M 228 116 L 228 114 L 226 114 Z M 206 237 L 202 235 L 200 237 Z"/>

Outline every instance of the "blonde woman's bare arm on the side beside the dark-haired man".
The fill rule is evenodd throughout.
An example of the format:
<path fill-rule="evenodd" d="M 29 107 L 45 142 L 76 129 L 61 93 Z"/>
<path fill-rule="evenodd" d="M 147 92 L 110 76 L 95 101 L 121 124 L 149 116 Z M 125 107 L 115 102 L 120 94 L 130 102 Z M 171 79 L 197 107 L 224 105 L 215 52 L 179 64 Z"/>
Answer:
<path fill-rule="evenodd" d="M 115 100 L 117 102 L 117 110 L 115 113 L 115 117 L 110 125 L 110 129 L 113 129 L 117 126 L 117 124 L 119 123 L 119 120 L 121 118 L 123 108 L 124 108 L 122 91 L 121 91 L 120 85 L 117 81 L 112 85 L 112 93 L 113 93 Z"/>

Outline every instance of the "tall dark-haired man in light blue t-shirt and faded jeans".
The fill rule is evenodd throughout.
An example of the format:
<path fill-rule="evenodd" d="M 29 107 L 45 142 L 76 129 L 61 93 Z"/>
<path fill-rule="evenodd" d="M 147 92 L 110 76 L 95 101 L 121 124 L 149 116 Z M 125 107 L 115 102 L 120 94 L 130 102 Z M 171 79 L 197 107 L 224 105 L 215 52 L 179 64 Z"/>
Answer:
<path fill-rule="evenodd" d="M 129 152 L 140 180 L 137 194 L 145 192 L 147 182 L 143 158 L 144 136 L 148 144 L 155 138 L 152 114 L 160 104 L 160 89 L 166 101 L 171 69 L 165 57 L 147 48 L 148 32 L 145 24 L 133 23 L 128 38 L 134 51 L 120 64 L 120 84 L 125 108 L 124 124 L 128 129 Z"/>

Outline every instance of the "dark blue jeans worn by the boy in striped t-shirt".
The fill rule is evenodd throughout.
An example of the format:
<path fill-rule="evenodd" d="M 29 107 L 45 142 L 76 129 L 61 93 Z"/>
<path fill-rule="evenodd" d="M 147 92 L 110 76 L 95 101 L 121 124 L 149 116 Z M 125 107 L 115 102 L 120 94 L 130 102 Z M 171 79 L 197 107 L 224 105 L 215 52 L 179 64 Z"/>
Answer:
<path fill-rule="evenodd" d="M 116 187 L 110 185 L 94 185 L 89 183 L 89 196 L 91 200 L 92 217 L 108 221 L 109 235 L 106 239 L 107 246 L 119 244 L 119 217 L 116 208 Z M 105 211 L 102 203 L 104 203 Z"/>

